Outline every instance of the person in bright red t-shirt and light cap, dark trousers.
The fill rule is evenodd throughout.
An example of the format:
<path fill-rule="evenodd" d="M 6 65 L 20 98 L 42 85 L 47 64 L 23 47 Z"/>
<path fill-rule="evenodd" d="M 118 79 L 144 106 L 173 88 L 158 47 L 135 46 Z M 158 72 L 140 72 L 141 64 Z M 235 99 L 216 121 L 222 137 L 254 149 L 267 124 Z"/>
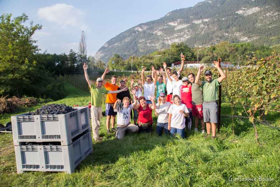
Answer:
<path fill-rule="evenodd" d="M 192 84 L 189 82 L 188 77 L 183 77 L 182 85 L 180 87 L 181 92 L 181 103 L 185 104 L 189 111 L 189 116 L 185 117 L 185 124 L 189 130 L 191 130 L 192 126 Z"/>

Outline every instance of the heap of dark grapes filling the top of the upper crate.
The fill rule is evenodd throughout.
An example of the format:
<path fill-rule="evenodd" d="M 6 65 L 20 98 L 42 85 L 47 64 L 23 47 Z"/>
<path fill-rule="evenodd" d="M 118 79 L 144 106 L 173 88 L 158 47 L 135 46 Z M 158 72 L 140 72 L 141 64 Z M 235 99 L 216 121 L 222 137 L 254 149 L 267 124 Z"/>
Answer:
<path fill-rule="evenodd" d="M 67 114 L 77 109 L 67 106 L 65 104 L 48 104 L 43 105 L 35 112 L 30 112 L 27 115 L 54 115 L 54 114 Z"/>

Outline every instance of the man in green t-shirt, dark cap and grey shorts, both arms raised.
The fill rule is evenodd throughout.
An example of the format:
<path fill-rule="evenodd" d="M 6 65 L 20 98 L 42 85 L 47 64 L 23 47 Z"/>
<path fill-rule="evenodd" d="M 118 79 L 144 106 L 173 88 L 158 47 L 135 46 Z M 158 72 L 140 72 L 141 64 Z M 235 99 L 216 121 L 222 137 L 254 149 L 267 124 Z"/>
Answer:
<path fill-rule="evenodd" d="M 206 70 L 205 80 L 199 81 L 199 76 L 204 66 L 200 66 L 198 69 L 198 73 L 195 78 L 195 83 L 199 86 L 202 86 L 203 89 L 203 118 L 204 122 L 206 122 L 206 129 L 208 136 L 210 135 L 210 130 L 212 129 L 212 138 L 216 137 L 216 128 L 218 123 L 218 86 L 221 85 L 222 80 L 226 77 L 222 69 L 219 67 L 219 63 L 214 61 L 214 67 L 220 73 L 220 77 L 212 80 L 212 72 L 210 70 Z"/>

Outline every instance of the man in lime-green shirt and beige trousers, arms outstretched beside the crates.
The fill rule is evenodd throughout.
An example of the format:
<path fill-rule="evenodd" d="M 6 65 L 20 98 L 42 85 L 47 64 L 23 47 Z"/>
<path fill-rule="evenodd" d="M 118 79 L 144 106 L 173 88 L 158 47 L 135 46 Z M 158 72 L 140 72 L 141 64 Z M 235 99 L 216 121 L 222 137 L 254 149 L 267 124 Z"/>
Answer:
<path fill-rule="evenodd" d="M 101 89 L 103 86 L 103 79 L 101 77 L 96 79 L 96 85 L 88 78 L 87 65 L 83 65 L 86 82 L 90 88 L 91 92 L 91 123 L 93 138 L 95 141 L 100 141 L 102 137 L 99 137 L 100 119 L 102 117 L 102 102 L 104 101 L 105 95 L 107 93 L 120 93 L 122 91 L 128 90 L 127 87 L 121 90 L 109 91 L 106 89 Z"/>

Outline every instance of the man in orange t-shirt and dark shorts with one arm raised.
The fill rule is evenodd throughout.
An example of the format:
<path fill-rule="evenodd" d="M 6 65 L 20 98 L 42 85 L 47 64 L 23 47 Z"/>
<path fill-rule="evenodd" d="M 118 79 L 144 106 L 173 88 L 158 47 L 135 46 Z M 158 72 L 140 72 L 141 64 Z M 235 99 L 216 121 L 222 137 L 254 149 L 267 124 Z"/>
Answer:
<path fill-rule="evenodd" d="M 111 83 L 108 83 L 105 81 L 105 75 L 109 73 L 110 70 L 109 68 L 106 68 L 103 75 L 101 76 L 101 79 L 104 81 L 104 86 L 107 90 L 110 91 L 116 91 L 118 90 L 119 86 L 116 85 L 117 83 L 117 76 L 113 75 L 111 78 Z M 117 94 L 116 93 L 108 93 L 106 95 L 106 128 L 107 128 L 107 133 L 110 133 L 110 121 L 111 121 L 111 128 L 112 131 L 115 132 L 115 118 L 117 113 L 114 112 L 114 103 L 117 101 Z"/>

